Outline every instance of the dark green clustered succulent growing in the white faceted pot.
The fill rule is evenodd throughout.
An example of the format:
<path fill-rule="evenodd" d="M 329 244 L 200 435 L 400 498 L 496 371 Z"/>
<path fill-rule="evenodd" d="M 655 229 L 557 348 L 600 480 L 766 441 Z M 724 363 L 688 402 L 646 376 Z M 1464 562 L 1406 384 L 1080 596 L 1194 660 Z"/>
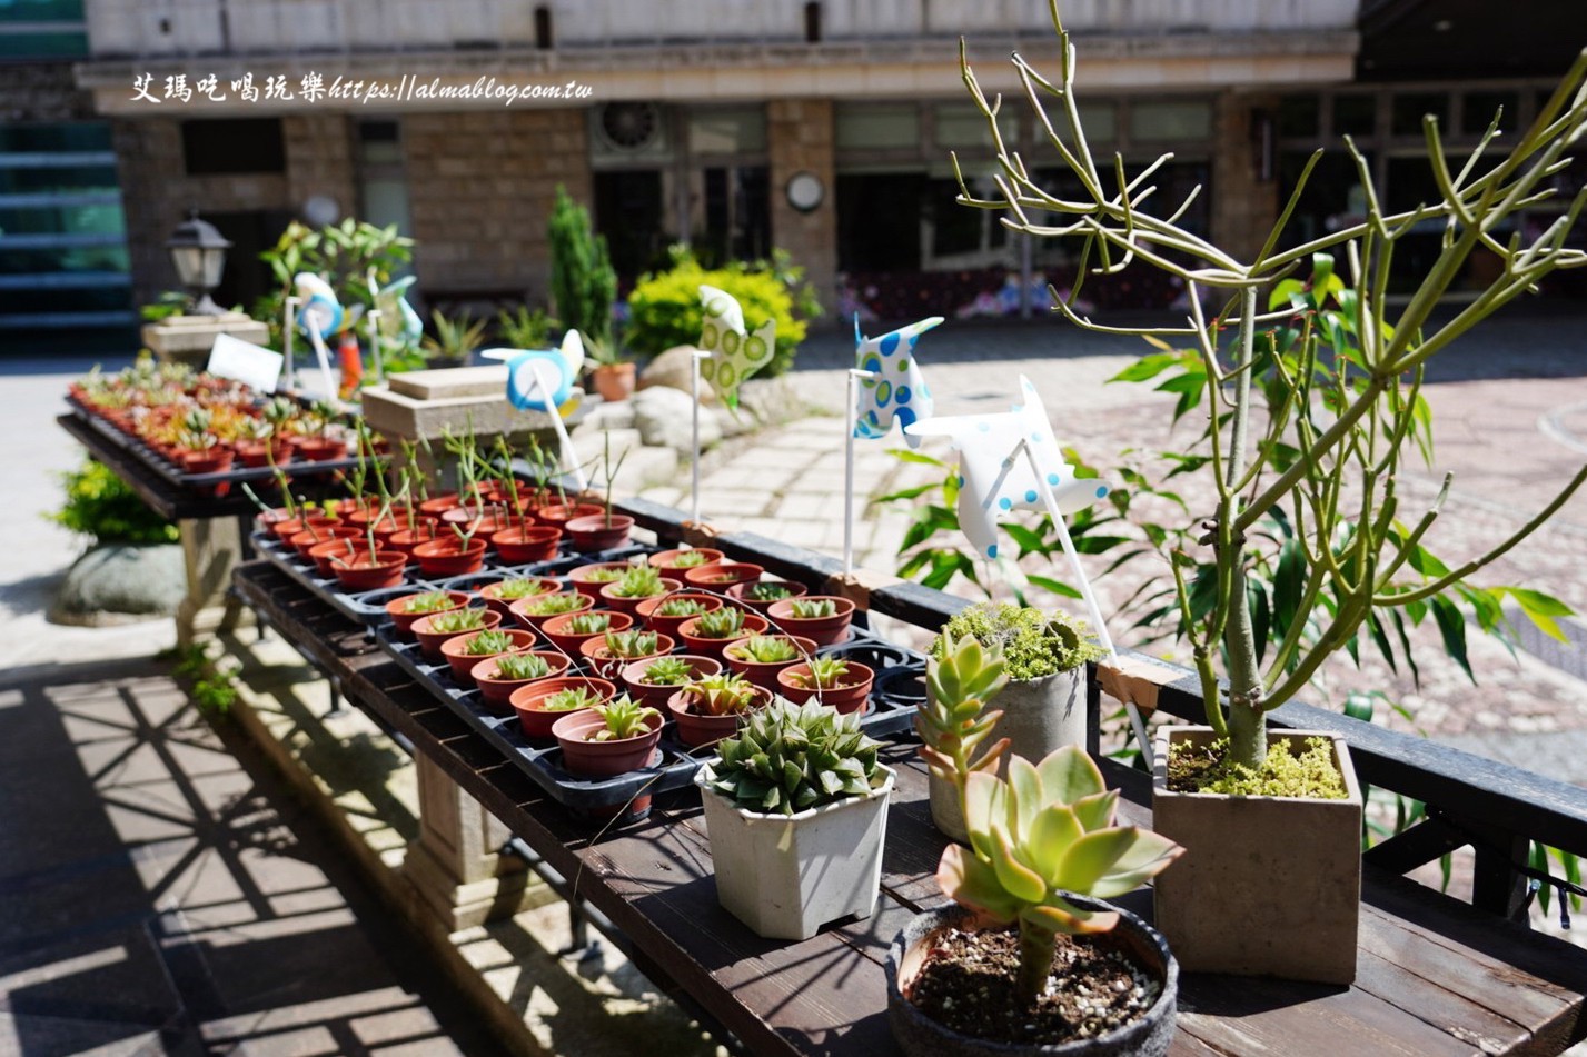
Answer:
<path fill-rule="evenodd" d="M 741 811 L 797 814 L 884 784 L 876 749 L 859 716 L 776 701 L 717 744 L 706 784 Z"/>

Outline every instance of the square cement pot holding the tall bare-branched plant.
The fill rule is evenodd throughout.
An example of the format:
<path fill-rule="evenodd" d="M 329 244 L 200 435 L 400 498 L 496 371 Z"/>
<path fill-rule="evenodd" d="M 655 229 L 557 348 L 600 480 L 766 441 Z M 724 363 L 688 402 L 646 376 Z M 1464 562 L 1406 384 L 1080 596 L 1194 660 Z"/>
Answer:
<path fill-rule="evenodd" d="M 1208 727 L 1163 727 L 1152 774 L 1152 830 L 1185 854 L 1154 882 L 1154 919 L 1187 973 L 1355 979 L 1362 908 L 1362 789 L 1346 744 L 1327 738 L 1346 800 L 1168 790 L 1170 746 L 1208 743 Z"/>

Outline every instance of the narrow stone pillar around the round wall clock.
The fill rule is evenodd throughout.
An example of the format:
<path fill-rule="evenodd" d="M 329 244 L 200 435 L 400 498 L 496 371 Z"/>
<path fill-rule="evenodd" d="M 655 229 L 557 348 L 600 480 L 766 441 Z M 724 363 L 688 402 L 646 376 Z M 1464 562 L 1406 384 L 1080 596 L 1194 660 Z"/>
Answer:
<path fill-rule="evenodd" d="M 767 103 L 767 141 L 771 149 L 771 244 L 805 265 L 830 313 L 836 303 L 838 189 L 833 168 L 832 100 L 774 98 Z M 814 173 L 827 197 L 809 213 L 789 205 L 787 183 L 795 173 Z"/>

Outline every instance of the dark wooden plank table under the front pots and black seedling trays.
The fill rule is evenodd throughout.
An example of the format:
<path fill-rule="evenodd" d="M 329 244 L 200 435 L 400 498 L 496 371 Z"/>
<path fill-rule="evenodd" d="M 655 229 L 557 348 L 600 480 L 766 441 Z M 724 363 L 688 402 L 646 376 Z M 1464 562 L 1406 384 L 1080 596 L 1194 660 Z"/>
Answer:
<path fill-rule="evenodd" d="M 684 992 L 754 1054 L 889 1057 L 882 960 L 893 935 L 943 903 L 932 879 L 943 836 L 911 746 L 898 767 L 882 898 L 867 921 L 813 940 L 762 940 L 716 901 L 711 844 L 692 794 L 657 798 L 644 822 L 595 836 L 416 686 L 370 652 L 362 628 L 268 565 L 236 573 L 244 600 L 349 700 L 405 735 L 522 836 L 625 936 L 641 970 Z M 1120 813 L 1149 822 L 1144 776 L 1108 763 Z M 1281 879 L 1278 879 L 1281 882 Z M 1174 1054 L 1552 1054 L 1587 1033 L 1587 951 L 1366 868 L 1355 986 L 1181 976 Z M 1120 903 L 1151 916 L 1136 892 Z"/>

